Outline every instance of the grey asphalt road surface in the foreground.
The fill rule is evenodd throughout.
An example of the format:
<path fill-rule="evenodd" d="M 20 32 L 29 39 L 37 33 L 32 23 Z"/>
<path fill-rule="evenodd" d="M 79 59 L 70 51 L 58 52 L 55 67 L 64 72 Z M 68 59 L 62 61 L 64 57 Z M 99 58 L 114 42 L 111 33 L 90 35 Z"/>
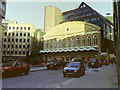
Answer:
<path fill-rule="evenodd" d="M 3 78 L 2 88 L 116 88 L 115 75 L 115 65 L 102 66 L 98 72 L 86 66 L 86 74 L 80 78 L 63 77 L 62 69 L 44 70 Z"/>

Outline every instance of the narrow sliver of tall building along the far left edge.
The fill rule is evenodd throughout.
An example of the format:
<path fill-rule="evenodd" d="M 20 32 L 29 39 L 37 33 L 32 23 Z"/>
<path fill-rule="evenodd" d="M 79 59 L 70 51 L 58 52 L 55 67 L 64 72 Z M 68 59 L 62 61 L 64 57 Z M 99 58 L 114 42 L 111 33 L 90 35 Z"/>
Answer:
<path fill-rule="evenodd" d="M 3 44 L 3 30 L 2 19 L 5 18 L 6 1 L 0 0 L 0 62 L 2 61 L 2 44 Z"/>

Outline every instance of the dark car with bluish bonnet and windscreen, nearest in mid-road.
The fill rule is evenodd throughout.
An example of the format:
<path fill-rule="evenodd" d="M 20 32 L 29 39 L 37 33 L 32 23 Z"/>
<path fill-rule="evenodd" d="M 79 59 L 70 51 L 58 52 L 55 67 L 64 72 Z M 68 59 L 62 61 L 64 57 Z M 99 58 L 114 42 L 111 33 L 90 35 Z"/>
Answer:
<path fill-rule="evenodd" d="M 69 75 L 80 77 L 81 75 L 85 75 L 85 66 L 80 62 L 70 62 L 63 69 L 62 73 L 64 77 Z"/>

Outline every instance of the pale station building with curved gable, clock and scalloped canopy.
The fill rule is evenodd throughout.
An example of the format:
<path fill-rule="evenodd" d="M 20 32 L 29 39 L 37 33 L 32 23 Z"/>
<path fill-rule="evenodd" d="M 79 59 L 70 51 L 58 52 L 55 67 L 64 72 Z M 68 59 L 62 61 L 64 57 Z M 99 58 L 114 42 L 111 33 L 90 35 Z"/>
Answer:
<path fill-rule="evenodd" d="M 44 60 L 90 58 L 101 51 L 100 27 L 83 21 L 62 23 L 44 36 Z"/>

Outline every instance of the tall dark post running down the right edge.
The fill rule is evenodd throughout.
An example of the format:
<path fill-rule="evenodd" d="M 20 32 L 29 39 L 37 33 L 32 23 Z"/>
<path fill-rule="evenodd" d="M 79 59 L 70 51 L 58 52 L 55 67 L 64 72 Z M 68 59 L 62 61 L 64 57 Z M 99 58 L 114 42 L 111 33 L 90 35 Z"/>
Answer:
<path fill-rule="evenodd" d="M 113 0 L 113 17 L 114 17 L 114 31 L 116 42 L 116 65 L 118 75 L 118 88 L 120 88 L 120 0 Z"/>

